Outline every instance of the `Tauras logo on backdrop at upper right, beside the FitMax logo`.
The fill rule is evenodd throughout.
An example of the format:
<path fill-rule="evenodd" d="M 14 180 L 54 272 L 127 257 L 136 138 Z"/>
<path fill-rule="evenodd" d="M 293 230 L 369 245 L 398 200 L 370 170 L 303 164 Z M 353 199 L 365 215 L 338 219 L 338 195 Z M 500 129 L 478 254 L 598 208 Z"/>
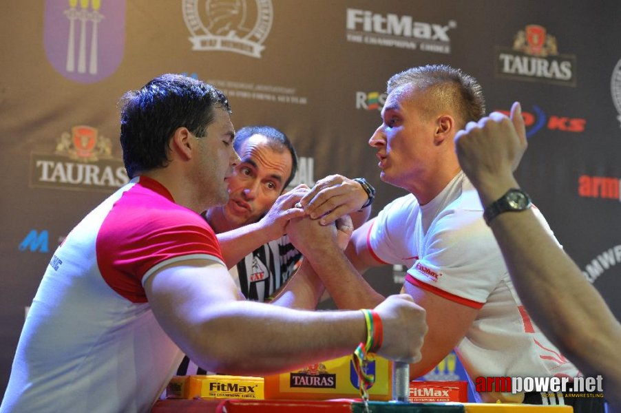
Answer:
<path fill-rule="evenodd" d="M 512 49 L 496 48 L 496 76 L 576 87 L 576 56 L 558 54 L 556 37 L 540 25 L 527 25 Z"/>

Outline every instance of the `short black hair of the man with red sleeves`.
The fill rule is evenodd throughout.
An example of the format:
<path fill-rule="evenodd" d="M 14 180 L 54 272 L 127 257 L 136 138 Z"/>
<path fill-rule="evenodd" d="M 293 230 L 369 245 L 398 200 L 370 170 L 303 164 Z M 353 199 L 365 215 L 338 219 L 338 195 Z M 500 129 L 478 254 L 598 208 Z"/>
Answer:
<path fill-rule="evenodd" d="M 176 129 L 187 127 L 205 136 L 213 108 L 231 107 L 220 90 L 180 74 L 163 74 L 121 98 L 120 145 L 129 178 L 166 167 L 169 141 Z"/>

